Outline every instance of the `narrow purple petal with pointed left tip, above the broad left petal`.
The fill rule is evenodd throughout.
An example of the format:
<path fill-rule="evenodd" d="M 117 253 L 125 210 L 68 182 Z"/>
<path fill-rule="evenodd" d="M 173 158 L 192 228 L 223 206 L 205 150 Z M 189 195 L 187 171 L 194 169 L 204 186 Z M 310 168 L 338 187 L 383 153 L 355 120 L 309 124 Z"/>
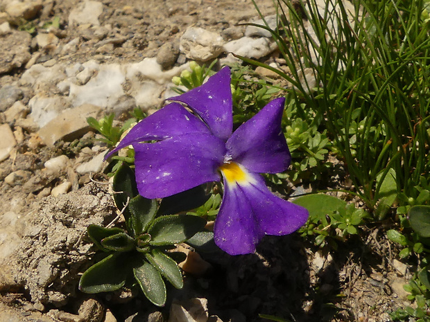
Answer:
<path fill-rule="evenodd" d="M 191 114 L 182 105 L 173 102 L 132 127 L 117 147 L 107 154 L 106 158 L 133 143 L 164 140 L 189 133 L 210 134 L 211 132 L 197 116 Z"/>

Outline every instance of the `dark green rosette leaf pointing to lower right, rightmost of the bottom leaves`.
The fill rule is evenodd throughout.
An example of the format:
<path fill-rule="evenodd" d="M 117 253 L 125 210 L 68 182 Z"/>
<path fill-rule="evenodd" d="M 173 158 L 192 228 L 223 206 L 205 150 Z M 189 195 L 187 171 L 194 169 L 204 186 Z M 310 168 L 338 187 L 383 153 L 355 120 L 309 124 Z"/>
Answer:
<path fill-rule="evenodd" d="M 160 271 L 170 283 L 177 289 L 184 287 L 184 281 L 182 280 L 182 274 L 178 267 L 178 264 L 158 249 L 153 249 L 150 253 L 146 253 L 146 259 Z"/>

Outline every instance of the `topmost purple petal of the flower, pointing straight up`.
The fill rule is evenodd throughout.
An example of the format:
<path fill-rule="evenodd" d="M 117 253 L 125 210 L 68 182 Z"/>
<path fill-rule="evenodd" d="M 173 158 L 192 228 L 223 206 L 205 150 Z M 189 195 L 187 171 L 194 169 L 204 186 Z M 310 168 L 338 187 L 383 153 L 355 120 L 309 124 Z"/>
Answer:
<path fill-rule="evenodd" d="M 230 88 L 230 69 L 224 67 L 210 77 L 205 84 L 169 98 L 184 102 L 195 111 L 212 129 L 218 138 L 227 141 L 232 134 L 232 90 Z"/>

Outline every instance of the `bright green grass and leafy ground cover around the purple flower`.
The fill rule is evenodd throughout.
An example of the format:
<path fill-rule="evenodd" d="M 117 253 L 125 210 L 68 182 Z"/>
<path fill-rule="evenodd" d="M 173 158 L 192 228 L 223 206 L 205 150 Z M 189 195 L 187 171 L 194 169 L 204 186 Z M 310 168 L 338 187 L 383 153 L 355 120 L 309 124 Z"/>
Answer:
<path fill-rule="evenodd" d="M 270 30 L 288 69 L 246 57 L 241 57 L 246 66 L 231 66 L 234 126 L 273 97 L 286 97 L 282 131 L 292 163 L 289 172 L 266 175 L 266 181 L 275 189 L 285 188 L 286 180 L 329 186 L 325 181 L 335 163 L 342 163 L 343 179 L 352 186 L 341 181 L 335 188 L 347 197 L 320 191 L 295 199 L 309 210 L 301 235 L 318 247 L 337 249 L 339 242 L 360 235 L 363 225 L 388 223 L 387 237 L 402 248 L 399 258 L 419 266 L 405 285 L 414 308 L 392 312 L 392 319 L 430 321 L 430 234 L 420 229 L 430 222 L 430 1 L 329 0 L 320 8 L 313 0 L 278 0 L 274 5 L 278 27 L 260 27 Z M 178 93 L 203 84 L 215 64 L 191 63 L 191 71 L 173 79 Z M 270 69 L 289 86 L 259 78 L 250 66 Z M 113 129 L 112 120 L 90 124 L 113 146 L 125 129 Z M 114 156 L 118 164 L 132 164 L 134 154 L 127 153 L 129 159 Z M 216 186 L 209 190 L 210 197 L 189 215 L 216 218 L 221 194 Z M 315 207 L 320 204 L 325 206 Z"/>

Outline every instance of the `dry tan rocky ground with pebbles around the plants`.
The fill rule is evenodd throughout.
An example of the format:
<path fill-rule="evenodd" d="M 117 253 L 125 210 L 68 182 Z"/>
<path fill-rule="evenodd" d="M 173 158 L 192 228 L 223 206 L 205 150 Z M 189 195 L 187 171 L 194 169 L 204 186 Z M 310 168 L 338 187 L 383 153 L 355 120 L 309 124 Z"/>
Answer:
<path fill-rule="evenodd" d="M 257 3 L 272 21 L 273 2 Z M 249 0 L 0 0 L 0 321 L 390 321 L 408 304 L 408 267 L 377 229 L 336 253 L 291 235 L 203 256 L 207 272 L 186 273 L 162 310 L 135 292 L 78 291 L 86 227 L 116 216 L 85 119 L 160 108 L 191 60 L 279 66 L 270 35 L 237 26 L 258 18 Z"/>

